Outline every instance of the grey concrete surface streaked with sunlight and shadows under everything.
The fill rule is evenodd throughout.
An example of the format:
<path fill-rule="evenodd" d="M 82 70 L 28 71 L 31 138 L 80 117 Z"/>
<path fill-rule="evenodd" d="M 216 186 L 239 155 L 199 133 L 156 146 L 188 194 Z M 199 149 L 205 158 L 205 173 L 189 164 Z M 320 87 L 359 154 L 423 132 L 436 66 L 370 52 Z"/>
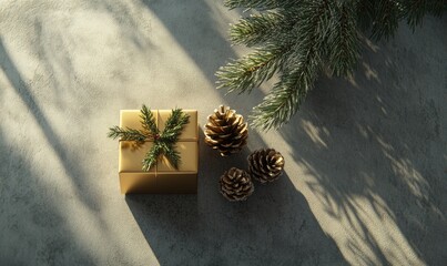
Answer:
<path fill-rule="evenodd" d="M 0 265 L 447 265 L 447 20 L 365 40 L 280 131 L 238 155 L 201 144 L 197 195 L 120 194 L 120 109 L 219 104 L 240 13 L 220 1 L 0 2 Z M 203 132 L 201 132 L 203 137 Z M 285 175 L 226 202 L 217 180 L 272 146 Z"/>

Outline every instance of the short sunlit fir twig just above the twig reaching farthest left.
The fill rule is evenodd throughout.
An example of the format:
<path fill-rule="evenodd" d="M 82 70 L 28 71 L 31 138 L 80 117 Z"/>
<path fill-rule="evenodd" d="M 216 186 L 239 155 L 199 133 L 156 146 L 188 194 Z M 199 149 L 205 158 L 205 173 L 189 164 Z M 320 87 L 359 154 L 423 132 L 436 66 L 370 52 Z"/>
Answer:
<path fill-rule="evenodd" d="M 247 47 L 272 42 L 284 23 L 284 17 L 277 12 L 252 14 L 231 27 L 230 40 L 235 44 Z"/>

